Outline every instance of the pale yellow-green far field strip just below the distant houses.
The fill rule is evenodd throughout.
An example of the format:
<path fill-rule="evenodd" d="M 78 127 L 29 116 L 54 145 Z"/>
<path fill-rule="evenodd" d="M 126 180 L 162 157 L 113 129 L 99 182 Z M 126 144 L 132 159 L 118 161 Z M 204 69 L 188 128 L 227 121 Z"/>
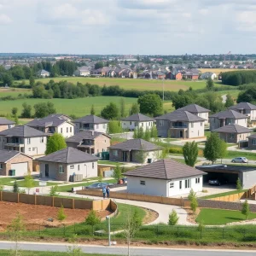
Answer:
<path fill-rule="evenodd" d="M 40 81 L 42 83 L 48 83 L 49 79 L 36 79 L 36 82 Z M 162 90 L 163 81 L 161 79 L 110 79 L 110 78 L 76 78 L 76 77 L 61 77 L 54 78 L 55 82 L 60 82 L 66 80 L 67 82 L 76 84 L 77 82 L 85 84 L 98 84 L 103 86 L 108 85 L 119 85 L 121 88 L 127 90 Z M 28 84 L 28 80 L 25 81 Z M 220 84 L 215 84 L 219 86 Z M 176 80 L 164 80 L 165 90 L 177 91 L 180 89 L 187 90 L 189 87 L 194 90 L 202 89 L 206 87 L 206 81 L 176 81 Z"/>

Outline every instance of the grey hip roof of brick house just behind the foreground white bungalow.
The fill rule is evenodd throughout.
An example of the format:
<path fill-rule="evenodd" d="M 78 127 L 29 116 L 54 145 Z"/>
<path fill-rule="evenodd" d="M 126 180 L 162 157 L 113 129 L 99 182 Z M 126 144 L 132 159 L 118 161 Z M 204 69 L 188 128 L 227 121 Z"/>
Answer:
<path fill-rule="evenodd" d="M 143 151 L 154 151 L 160 150 L 161 147 L 155 145 L 154 143 L 148 143 L 143 139 L 131 139 L 124 143 L 118 143 L 114 146 L 109 147 L 109 149 L 121 149 L 121 150 L 142 150 Z"/>

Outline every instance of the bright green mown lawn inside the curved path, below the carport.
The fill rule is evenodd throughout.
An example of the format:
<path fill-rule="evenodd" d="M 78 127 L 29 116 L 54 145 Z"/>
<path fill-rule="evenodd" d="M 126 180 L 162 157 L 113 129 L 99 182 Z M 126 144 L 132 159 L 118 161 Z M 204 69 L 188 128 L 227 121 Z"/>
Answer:
<path fill-rule="evenodd" d="M 256 213 L 251 212 L 248 219 L 256 218 Z M 230 211 L 221 209 L 203 208 L 196 218 L 196 222 L 202 222 L 206 225 L 221 225 L 230 222 L 245 220 L 245 216 L 240 211 Z"/>

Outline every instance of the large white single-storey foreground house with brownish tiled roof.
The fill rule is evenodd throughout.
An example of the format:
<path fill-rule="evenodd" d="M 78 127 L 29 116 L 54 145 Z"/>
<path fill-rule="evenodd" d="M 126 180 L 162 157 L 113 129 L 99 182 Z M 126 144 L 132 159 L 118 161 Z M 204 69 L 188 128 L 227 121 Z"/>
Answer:
<path fill-rule="evenodd" d="M 202 190 L 205 172 L 175 160 L 158 160 L 147 166 L 125 172 L 127 192 L 141 195 L 175 196 Z"/>

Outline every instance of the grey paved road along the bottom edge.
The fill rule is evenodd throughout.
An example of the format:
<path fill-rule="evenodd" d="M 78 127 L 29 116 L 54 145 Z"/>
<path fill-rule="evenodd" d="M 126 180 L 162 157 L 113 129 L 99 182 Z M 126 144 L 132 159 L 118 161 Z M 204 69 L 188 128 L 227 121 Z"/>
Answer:
<path fill-rule="evenodd" d="M 1 249 L 10 249 L 14 245 L 8 241 L 0 241 Z M 66 252 L 67 246 L 64 243 L 36 243 L 22 242 L 20 248 L 27 251 L 50 251 Z M 104 247 L 95 245 L 80 246 L 84 253 L 104 253 L 127 255 L 127 247 Z M 131 247 L 131 255 L 137 256 L 254 256 L 256 251 L 231 251 L 231 250 L 197 250 L 197 249 L 173 249 L 161 247 Z"/>

